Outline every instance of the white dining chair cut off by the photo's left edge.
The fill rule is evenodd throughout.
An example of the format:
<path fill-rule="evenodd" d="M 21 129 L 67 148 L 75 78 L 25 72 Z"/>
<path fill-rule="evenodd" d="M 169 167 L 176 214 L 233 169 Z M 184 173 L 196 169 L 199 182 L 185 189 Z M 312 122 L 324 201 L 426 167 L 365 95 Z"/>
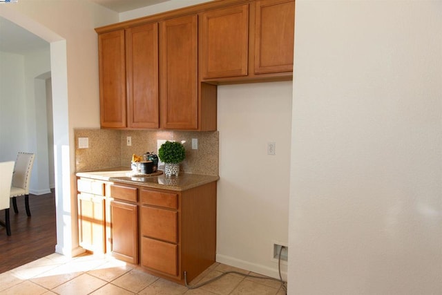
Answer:
<path fill-rule="evenodd" d="M 5 222 L 0 220 L 0 225 L 6 227 L 6 234 L 11 235 L 9 221 L 10 189 L 14 171 L 14 162 L 0 162 L 0 210 L 5 210 Z"/>

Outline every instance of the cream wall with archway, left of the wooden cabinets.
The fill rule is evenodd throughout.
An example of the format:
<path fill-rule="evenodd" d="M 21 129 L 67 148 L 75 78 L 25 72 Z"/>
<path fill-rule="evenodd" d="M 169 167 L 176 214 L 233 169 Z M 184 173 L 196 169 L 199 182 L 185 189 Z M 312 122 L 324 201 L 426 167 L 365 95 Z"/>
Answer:
<path fill-rule="evenodd" d="M 57 247 L 68 256 L 78 247 L 74 128 L 99 127 L 97 34 L 118 21 L 117 12 L 89 1 L 21 0 L 0 6 L 0 15 L 50 42 L 54 113 Z"/>

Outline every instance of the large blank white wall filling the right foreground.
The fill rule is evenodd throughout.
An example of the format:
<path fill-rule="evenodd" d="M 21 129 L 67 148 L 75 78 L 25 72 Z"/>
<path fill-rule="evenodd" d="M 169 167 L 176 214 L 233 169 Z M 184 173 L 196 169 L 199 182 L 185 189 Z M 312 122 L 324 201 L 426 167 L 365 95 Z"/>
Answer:
<path fill-rule="evenodd" d="M 289 294 L 440 294 L 442 2 L 296 1 Z"/>

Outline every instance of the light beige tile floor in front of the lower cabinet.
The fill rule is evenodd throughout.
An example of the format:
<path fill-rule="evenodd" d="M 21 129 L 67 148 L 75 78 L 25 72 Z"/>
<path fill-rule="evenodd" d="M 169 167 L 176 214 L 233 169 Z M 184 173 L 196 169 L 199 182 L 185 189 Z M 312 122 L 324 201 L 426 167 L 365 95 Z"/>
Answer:
<path fill-rule="evenodd" d="M 229 271 L 257 276 L 244 269 L 214 263 L 189 285 L 204 283 Z M 285 290 L 276 280 L 250 278 L 240 274 L 227 274 L 198 289 L 188 289 L 111 257 L 85 254 L 66 258 L 60 254 L 51 254 L 0 274 L 0 294 L 284 295 Z"/>

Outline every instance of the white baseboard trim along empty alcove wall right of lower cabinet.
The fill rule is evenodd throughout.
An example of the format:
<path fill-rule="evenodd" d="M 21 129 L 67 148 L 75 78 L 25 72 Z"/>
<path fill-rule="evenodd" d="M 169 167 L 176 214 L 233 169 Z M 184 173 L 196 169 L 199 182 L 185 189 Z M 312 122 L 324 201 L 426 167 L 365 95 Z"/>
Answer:
<path fill-rule="evenodd" d="M 279 278 L 278 264 L 276 268 L 267 267 L 265 265 L 258 265 L 256 263 L 251 263 L 246 260 L 241 260 L 231 256 L 226 256 L 222 254 L 216 254 L 216 262 L 223 263 L 225 265 L 230 265 L 233 267 L 238 267 L 241 269 L 246 269 L 249 272 L 256 272 L 256 274 L 262 274 L 264 276 L 270 276 L 271 278 Z M 281 276 L 282 280 L 287 281 L 287 265 L 281 265 Z"/>

